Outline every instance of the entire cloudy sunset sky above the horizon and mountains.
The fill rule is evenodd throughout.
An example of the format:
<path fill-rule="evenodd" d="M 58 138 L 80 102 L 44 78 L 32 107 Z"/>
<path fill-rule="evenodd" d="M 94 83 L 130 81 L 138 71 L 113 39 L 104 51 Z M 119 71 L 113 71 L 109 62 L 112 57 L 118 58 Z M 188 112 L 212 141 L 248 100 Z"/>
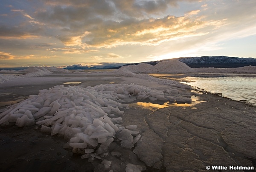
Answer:
<path fill-rule="evenodd" d="M 256 58 L 256 0 L 1 0 L 0 68 Z"/>

